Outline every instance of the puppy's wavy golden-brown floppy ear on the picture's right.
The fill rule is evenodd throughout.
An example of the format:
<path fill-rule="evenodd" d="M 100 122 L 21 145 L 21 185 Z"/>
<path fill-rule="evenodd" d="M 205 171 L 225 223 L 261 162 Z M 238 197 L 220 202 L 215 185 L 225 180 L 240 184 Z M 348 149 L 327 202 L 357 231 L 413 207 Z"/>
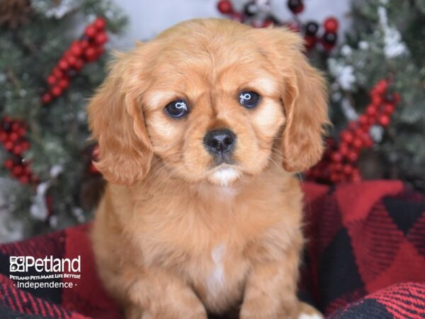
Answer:
<path fill-rule="evenodd" d="M 283 167 L 288 172 L 302 172 L 322 157 L 324 125 L 329 124 L 327 89 L 322 75 L 307 62 L 300 36 L 288 30 L 276 31 L 286 116 L 280 140 Z"/>

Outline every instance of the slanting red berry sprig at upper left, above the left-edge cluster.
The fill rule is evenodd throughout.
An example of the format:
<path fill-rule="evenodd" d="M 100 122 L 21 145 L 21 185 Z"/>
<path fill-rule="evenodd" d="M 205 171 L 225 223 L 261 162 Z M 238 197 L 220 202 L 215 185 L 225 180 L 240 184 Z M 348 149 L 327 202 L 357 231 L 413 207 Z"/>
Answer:
<path fill-rule="evenodd" d="M 72 42 L 52 69 L 46 79 L 49 89 L 42 94 L 42 103 L 50 103 L 61 96 L 68 88 L 70 78 L 77 74 L 85 63 L 96 61 L 105 52 L 103 45 L 107 41 L 106 21 L 96 18 L 94 23 L 86 27 L 81 39 Z"/>

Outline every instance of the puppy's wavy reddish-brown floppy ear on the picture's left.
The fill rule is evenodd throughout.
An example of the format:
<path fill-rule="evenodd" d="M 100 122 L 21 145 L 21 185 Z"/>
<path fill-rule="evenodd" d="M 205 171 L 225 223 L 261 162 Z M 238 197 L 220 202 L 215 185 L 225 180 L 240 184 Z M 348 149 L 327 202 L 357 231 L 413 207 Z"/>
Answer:
<path fill-rule="evenodd" d="M 129 55 L 118 56 L 88 110 L 99 149 L 94 164 L 108 181 L 125 185 L 145 177 L 153 155 L 133 70 Z"/>

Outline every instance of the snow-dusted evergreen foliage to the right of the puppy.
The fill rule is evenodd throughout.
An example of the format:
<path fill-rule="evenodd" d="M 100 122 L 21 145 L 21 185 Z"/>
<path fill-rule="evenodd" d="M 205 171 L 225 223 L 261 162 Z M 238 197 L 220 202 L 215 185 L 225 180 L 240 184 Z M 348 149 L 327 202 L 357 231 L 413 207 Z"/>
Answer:
<path fill-rule="evenodd" d="M 425 189 L 425 1 L 362 0 L 353 3 L 353 27 L 329 66 L 352 67 L 355 81 L 342 87 L 334 71 L 333 103 L 350 96 L 362 113 L 368 91 L 380 79 L 392 79 L 402 97 L 382 140 L 374 151 L 386 158 L 385 177 L 410 181 Z M 334 112 L 336 128 L 346 125 Z M 382 163 L 383 164 L 383 163 Z"/>

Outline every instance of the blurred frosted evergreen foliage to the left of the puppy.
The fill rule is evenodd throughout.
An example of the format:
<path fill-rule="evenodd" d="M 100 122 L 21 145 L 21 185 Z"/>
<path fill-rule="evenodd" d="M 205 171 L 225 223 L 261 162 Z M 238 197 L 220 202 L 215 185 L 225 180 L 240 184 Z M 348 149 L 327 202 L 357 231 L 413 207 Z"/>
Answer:
<path fill-rule="evenodd" d="M 2 198 L 0 223 L 22 220 L 24 236 L 62 228 L 86 218 L 87 213 L 81 213 L 79 201 L 87 165 L 83 150 L 89 136 L 85 108 L 87 99 L 105 75 L 108 57 L 85 65 L 71 79 L 69 89 L 48 105 L 40 102 L 45 79 L 72 40 L 78 39 L 84 26 L 96 16 L 106 18 L 110 34 L 118 33 L 126 23 L 125 16 L 109 0 L 62 0 L 59 4 L 52 0 L 33 0 L 31 9 L 30 21 L 25 25 L 13 30 L 6 26 L 0 29 L 1 116 L 28 123 L 31 147 L 25 158 L 32 162 L 31 168 L 41 182 L 50 185 L 47 194 L 53 198 L 54 218 L 29 213 L 30 206 L 36 202 L 36 187 L 18 185 L 10 173 L 1 168 L 1 176 L 5 178 L 0 180 L 0 188 L 5 198 Z M 2 160 L 10 157 L 3 147 L 0 153 Z M 52 176 L 52 167 L 62 172 Z"/>

